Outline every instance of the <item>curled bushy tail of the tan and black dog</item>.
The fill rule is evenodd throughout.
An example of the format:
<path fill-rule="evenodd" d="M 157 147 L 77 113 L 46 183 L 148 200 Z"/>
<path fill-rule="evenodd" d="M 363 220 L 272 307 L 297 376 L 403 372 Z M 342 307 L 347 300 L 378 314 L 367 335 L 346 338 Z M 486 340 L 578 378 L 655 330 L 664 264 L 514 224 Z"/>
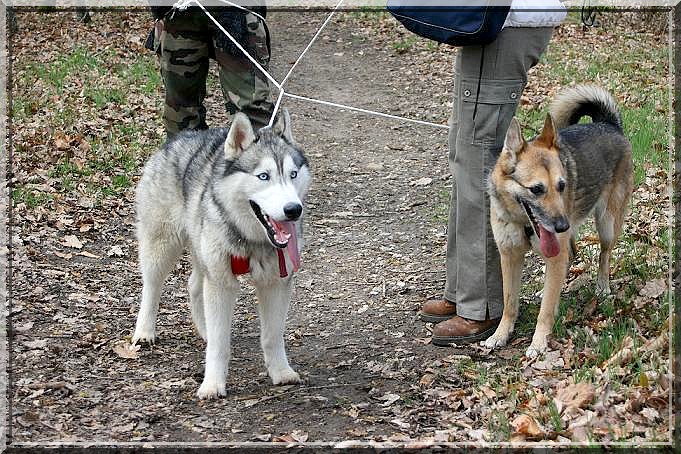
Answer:
<path fill-rule="evenodd" d="M 604 122 L 622 131 L 617 103 L 612 95 L 598 85 L 577 85 L 558 94 L 549 108 L 556 128 L 579 123 L 585 115 L 594 123 Z"/>

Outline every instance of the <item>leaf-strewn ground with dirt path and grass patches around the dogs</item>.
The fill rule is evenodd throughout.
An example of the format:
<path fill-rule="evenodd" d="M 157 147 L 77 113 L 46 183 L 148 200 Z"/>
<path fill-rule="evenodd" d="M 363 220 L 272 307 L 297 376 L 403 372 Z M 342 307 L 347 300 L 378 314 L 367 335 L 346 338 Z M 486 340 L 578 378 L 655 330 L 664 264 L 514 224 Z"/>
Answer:
<path fill-rule="evenodd" d="M 141 287 L 134 187 L 164 135 L 162 84 L 142 46 L 151 20 L 144 11 L 92 18 L 21 12 L 12 37 L 14 441 L 669 439 L 668 148 L 666 129 L 646 136 L 636 116 L 649 109 L 650 121 L 666 125 L 668 68 L 632 50 L 665 55 L 663 35 L 631 32 L 631 17 L 605 15 L 593 29 L 569 20 L 530 74 L 519 110 L 528 130 L 539 128 L 562 85 L 596 81 L 633 112 L 624 117 L 635 148 L 661 156 L 636 162 L 612 296 L 593 293 L 598 246 L 587 226 L 550 351 L 536 360 L 523 356 L 543 277 L 536 256 L 508 347 L 436 348 L 432 325 L 418 319 L 444 287 L 446 132 L 287 102 L 315 177 L 286 334 L 305 383 L 274 387 L 264 374 L 246 280 L 229 394 L 200 402 L 205 345 L 191 327 L 186 259 L 166 283 L 157 345 L 129 345 Z M 276 77 L 323 19 L 270 13 Z M 301 32 L 286 32 L 293 27 Z M 385 15 L 339 14 L 290 90 L 444 124 L 454 52 Z M 212 71 L 209 120 L 225 124 Z"/>

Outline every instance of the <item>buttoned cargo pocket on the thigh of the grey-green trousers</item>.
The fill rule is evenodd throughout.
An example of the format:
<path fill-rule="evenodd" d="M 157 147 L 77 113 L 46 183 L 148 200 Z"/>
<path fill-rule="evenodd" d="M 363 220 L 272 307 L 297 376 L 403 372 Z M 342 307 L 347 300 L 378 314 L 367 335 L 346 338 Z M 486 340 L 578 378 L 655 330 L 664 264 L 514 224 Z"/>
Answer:
<path fill-rule="evenodd" d="M 477 95 L 478 81 L 463 80 L 459 134 L 471 143 L 503 144 L 505 129 L 513 118 L 524 85 L 524 81 L 517 80 L 483 80 Z"/>

